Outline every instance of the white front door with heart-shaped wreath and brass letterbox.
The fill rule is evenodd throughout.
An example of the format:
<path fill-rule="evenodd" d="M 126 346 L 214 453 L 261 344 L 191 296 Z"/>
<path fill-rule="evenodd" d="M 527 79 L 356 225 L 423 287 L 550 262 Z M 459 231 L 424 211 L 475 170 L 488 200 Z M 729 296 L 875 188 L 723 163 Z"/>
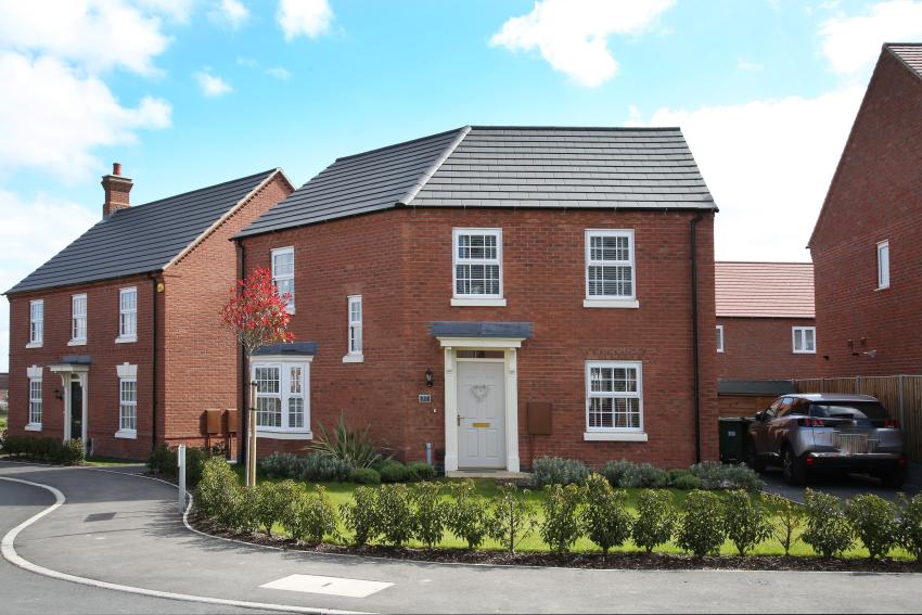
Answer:
<path fill-rule="evenodd" d="M 502 361 L 458 361 L 458 466 L 505 467 Z"/>

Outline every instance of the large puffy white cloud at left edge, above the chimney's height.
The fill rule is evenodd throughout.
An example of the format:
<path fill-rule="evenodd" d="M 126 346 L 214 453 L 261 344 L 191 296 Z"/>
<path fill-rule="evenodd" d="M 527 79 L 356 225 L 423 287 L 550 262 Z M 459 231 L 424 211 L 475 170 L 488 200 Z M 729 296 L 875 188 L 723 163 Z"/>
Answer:
<path fill-rule="evenodd" d="M 84 76 L 53 57 L 0 52 L 0 170 L 39 168 L 81 177 L 99 165 L 98 146 L 133 143 L 141 129 L 166 128 L 171 108 L 145 97 L 123 106 L 98 77 Z"/>

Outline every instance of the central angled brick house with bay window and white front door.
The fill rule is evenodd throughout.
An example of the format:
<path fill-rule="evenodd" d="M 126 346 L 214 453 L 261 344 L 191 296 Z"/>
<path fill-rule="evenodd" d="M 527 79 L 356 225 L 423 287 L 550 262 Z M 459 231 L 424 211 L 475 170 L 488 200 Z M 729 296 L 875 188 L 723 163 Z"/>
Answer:
<path fill-rule="evenodd" d="M 716 459 L 715 212 L 676 128 L 465 127 L 338 158 L 236 235 L 298 341 L 255 361 L 260 454 L 344 412 L 447 471 L 686 466 L 699 428 Z"/>

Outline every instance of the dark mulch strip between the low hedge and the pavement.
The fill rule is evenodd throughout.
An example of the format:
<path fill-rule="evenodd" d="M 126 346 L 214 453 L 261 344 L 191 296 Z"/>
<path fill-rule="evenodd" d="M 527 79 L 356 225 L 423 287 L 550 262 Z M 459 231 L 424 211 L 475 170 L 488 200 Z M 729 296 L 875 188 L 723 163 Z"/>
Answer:
<path fill-rule="evenodd" d="M 212 523 L 190 516 L 199 530 L 222 538 L 233 538 L 253 544 L 264 544 L 293 551 L 330 553 L 336 555 L 363 555 L 413 562 L 449 564 L 488 564 L 515 566 L 554 566 L 566 568 L 597 568 L 618 571 L 812 571 L 863 573 L 922 573 L 922 563 L 906 560 L 823 560 L 820 558 L 784 558 L 781 555 L 732 555 L 696 559 L 691 555 L 662 553 L 505 553 L 500 551 L 468 551 L 464 549 L 411 549 L 409 547 L 366 546 L 351 547 L 321 543 L 317 546 L 295 542 L 290 538 L 276 538 L 265 534 L 235 534 L 215 527 Z"/>

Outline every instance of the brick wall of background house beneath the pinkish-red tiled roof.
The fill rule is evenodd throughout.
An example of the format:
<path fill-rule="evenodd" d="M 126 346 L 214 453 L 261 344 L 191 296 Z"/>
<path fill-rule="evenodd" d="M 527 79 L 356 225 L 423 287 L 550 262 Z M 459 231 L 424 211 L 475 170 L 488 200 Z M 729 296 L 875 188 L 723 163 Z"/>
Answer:
<path fill-rule="evenodd" d="M 792 328 L 816 326 L 811 318 L 726 318 L 723 351 L 715 354 L 717 377 L 730 380 L 790 380 L 819 373 L 823 349 L 816 355 L 793 351 Z"/>

